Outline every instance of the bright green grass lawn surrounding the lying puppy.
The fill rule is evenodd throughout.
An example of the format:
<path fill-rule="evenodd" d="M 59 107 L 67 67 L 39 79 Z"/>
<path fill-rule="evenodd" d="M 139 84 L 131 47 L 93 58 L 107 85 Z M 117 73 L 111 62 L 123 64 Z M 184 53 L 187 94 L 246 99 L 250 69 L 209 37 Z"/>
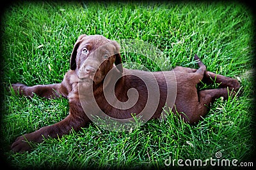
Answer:
<path fill-rule="evenodd" d="M 17 3 L 1 20 L 4 96 L 1 153 L 15 169 L 84 169 L 85 167 L 162 168 L 169 159 L 223 159 L 248 162 L 253 142 L 253 17 L 238 3 Z M 80 34 L 143 40 L 159 48 L 170 66 L 198 67 L 239 78 L 243 96 L 212 104 L 197 125 L 170 114 L 150 120 L 131 132 L 99 129 L 95 124 L 47 139 L 31 153 L 12 153 L 18 136 L 54 124 L 68 114 L 67 99 L 32 100 L 7 92 L 10 83 L 58 83 L 69 69 L 72 48 Z M 145 57 L 122 53 L 124 62 L 159 67 Z M 167 67 L 166 67 L 167 69 Z M 201 87 L 202 89 L 207 88 Z M 177 166 L 177 164 L 176 164 Z"/>

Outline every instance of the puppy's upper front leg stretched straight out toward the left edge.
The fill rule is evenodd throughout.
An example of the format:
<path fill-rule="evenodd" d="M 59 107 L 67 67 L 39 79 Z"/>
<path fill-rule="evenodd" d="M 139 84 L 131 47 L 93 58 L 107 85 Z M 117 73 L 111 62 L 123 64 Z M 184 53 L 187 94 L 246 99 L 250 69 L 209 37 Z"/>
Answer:
<path fill-rule="evenodd" d="M 67 93 L 61 86 L 61 83 L 51 85 L 34 85 L 32 87 L 28 87 L 22 83 L 15 83 L 12 84 L 12 88 L 15 94 L 24 95 L 26 97 L 33 97 L 34 94 L 47 99 L 60 97 L 60 95 L 67 97 Z"/>

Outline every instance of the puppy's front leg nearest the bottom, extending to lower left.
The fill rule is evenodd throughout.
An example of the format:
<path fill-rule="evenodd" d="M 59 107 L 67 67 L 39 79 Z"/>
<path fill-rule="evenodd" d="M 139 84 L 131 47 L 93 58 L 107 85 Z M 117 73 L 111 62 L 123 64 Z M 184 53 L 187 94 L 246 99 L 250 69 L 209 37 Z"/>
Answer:
<path fill-rule="evenodd" d="M 81 127 L 84 127 L 90 120 L 88 117 L 86 117 L 81 104 L 69 103 L 69 105 L 69 115 L 65 119 L 56 124 L 42 127 L 38 131 L 20 136 L 12 144 L 12 151 L 30 151 L 33 146 L 31 146 L 29 142 L 41 143 L 44 138 L 61 138 L 63 134 L 69 134 L 71 129 L 74 129 L 74 131 L 79 131 Z"/>

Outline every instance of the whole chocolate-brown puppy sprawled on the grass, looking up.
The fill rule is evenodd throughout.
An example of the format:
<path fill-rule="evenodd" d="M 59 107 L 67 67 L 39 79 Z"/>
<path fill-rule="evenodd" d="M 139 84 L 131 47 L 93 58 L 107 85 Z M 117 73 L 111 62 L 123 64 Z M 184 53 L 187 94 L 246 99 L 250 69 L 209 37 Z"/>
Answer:
<path fill-rule="evenodd" d="M 148 118 L 159 118 L 165 103 L 169 103 L 171 108 L 175 104 L 172 111 L 182 113 L 180 115 L 185 122 L 194 124 L 204 117 L 210 103 L 221 96 L 227 99 L 228 91 L 237 92 L 240 87 L 235 79 L 206 71 L 206 67 L 196 55 L 199 69 L 175 67 L 172 71 L 153 73 L 124 69 L 119 49 L 116 41 L 106 39 L 104 36 L 81 35 L 72 51 L 70 70 L 61 83 L 33 87 L 21 83 L 12 84 L 17 94 L 27 97 L 36 94 L 47 99 L 67 97 L 70 106 L 69 115 L 61 122 L 17 138 L 11 146 L 13 152 L 31 150 L 28 141 L 40 143 L 44 138 L 58 138 L 68 134 L 71 129 L 78 131 L 91 122 L 85 112 L 95 111 L 86 110 L 95 108 L 95 103 L 103 113 L 119 119 L 131 118 L 131 113 L 140 114 L 148 104 L 150 106 L 143 114 L 148 113 Z M 111 76 L 107 76 L 108 74 Z M 221 83 L 220 89 L 199 92 L 196 90 L 196 84 L 200 81 L 213 83 L 212 80 Z M 109 90 L 104 91 L 107 87 Z M 136 92 L 131 89 L 136 89 Z M 114 97 L 108 99 L 108 95 L 111 94 L 114 94 Z M 131 104 L 132 106 L 129 106 Z"/>

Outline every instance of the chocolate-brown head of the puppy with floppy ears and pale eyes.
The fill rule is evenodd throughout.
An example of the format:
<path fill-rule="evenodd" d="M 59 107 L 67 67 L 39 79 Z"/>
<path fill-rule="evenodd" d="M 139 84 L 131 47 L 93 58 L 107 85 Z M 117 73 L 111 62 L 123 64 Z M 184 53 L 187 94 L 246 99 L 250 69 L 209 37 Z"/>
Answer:
<path fill-rule="evenodd" d="M 79 36 L 71 54 L 70 69 L 76 70 L 80 80 L 100 83 L 113 67 L 123 71 L 120 46 L 116 41 L 100 35 Z"/>

